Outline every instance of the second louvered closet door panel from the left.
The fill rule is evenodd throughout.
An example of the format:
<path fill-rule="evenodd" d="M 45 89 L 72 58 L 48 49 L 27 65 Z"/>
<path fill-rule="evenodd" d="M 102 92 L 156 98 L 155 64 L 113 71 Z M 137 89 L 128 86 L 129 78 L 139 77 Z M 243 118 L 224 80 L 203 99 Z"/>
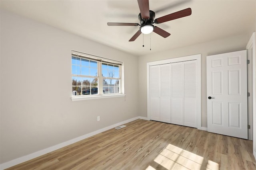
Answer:
<path fill-rule="evenodd" d="M 160 121 L 171 123 L 170 64 L 160 65 Z"/>

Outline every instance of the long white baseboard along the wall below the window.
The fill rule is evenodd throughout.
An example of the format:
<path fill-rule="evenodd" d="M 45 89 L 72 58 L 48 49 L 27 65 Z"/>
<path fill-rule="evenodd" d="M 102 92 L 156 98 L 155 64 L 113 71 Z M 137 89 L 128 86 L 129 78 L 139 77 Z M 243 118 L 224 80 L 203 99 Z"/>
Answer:
<path fill-rule="evenodd" d="M 0 164 L 0 170 L 4 170 L 4 169 L 6 169 L 6 168 L 10 168 L 10 167 L 15 166 L 15 165 L 17 165 L 17 164 L 20 164 L 20 163 L 22 163 L 22 162 L 26 162 L 26 161 L 31 160 L 31 159 L 33 159 L 33 158 L 36 158 L 36 157 L 38 157 L 38 156 L 42 156 L 42 155 L 47 154 L 47 153 L 49 153 L 49 152 L 52 152 L 52 151 L 54 151 L 54 150 L 57 150 L 57 149 L 66 147 L 66 146 L 68 146 L 68 145 L 71 145 L 71 144 L 73 144 L 73 143 L 76 143 L 76 142 L 78 142 L 78 141 L 81 141 L 81 140 L 83 140 L 83 139 L 86 139 L 86 138 L 88 138 L 88 137 L 97 135 L 98 133 L 102 133 L 102 132 L 104 132 L 104 131 L 107 131 L 107 130 L 109 130 L 109 129 L 112 129 L 112 128 L 117 127 L 117 126 L 120 126 L 120 125 L 123 125 L 123 124 L 125 124 L 125 123 L 129 123 L 129 122 L 134 121 L 134 120 L 137 120 L 137 119 L 148 120 L 147 117 L 138 116 L 138 117 L 134 117 L 134 118 L 132 118 L 132 119 L 128 119 L 128 120 L 126 120 L 126 121 L 122 121 L 122 122 L 116 123 L 116 124 L 114 124 L 114 125 L 110 125 L 110 126 L 108 126 L 108 127 L 104 127 L 104 128 L 102 128 L 102 129 L 99 129 L 99 130 L 97 130 L 97 131 L 94 131 L 94 132 L 91 132 L 91 133 L 82 135 L 82 136 L 77 137 L 77 138 L 75 138 L 75 139 L 71 139 L 71 140 L 69 140 L 69 141 L 60 143 L 60 144 L 58 144 L 58 145 L 54 145 L 54 146 L 52 146 L 52 147 L 49 147 L 49 148 L 46 148 L 46 149 L 43 149 L 43 150 L 39 150 L 39 151 L 34 152 L 34 153 L 32 153 L 32 154 L 28 154 L 28 155 L 26 155 L 26 156 L 22 156 L 22 157 L 20 157 L 20 158 L 11 160 L 11 161 L 6 162 L 6 163 L 3 163 L 3 164 Z"/>

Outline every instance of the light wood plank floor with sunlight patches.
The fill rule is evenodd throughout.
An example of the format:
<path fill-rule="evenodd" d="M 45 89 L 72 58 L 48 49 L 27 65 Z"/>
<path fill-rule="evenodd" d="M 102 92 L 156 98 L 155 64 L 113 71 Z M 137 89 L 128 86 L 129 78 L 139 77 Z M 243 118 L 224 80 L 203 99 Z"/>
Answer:
<path fill-rule="evenodd" d="M 255 170 L 252 141 L 138 119 L 8 170 Z"/>

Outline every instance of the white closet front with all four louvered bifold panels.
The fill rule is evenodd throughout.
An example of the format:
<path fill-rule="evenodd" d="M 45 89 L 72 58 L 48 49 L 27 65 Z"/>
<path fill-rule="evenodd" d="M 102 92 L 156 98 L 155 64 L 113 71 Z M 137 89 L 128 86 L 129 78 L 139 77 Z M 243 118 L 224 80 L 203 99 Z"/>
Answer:
<path fill-rule="evenodd" d="M 198 127 L 198 60 L 168 60 L 149 64 L 150 120 Z M 154 65 L 155 64 L 155 65 Z M 199 78 L 200 79 L 200 78 Z M 200 85 L 199 85 L 200 86 Z M 201 114 L 201 113 L 200 113 Z M 201 115 L 200 115 L 201 116 Z"/>

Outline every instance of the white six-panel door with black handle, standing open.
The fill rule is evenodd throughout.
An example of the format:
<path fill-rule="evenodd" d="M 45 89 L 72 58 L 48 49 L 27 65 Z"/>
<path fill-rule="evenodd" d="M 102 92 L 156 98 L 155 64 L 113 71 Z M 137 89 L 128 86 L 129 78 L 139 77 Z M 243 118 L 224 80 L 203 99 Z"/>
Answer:
<path fill-rule="evenodd" d="M 246 50 L 206 61 L 208 131 L 248 139 Z"/>

